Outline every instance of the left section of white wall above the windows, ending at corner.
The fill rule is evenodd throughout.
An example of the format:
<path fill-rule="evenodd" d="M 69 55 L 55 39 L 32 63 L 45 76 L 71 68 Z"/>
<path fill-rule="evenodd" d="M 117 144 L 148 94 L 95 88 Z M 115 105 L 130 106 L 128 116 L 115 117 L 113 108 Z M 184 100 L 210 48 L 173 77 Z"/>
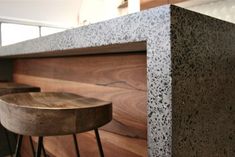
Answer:
<path fill-rule="evenodd" d="M 0 17 L 74 27 L 79 6 L 80 0 L 0 0 Z"/>

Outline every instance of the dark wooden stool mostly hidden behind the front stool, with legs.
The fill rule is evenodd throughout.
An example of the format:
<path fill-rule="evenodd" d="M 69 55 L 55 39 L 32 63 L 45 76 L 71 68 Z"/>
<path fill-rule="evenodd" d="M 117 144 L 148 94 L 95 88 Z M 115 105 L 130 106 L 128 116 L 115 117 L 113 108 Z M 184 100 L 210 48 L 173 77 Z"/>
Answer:
<path fill-rule="evenodd" d="M 40 92 L 40 88 L 25 85 L 25 84 L 14 83 L 14 82 L 0 82 L 0 96 L 6 95 L 6 94 L 11 94 L 11 93 L 24 93 L 24 92 Z M 3 130 L 6 135 L 9 151 L 11 154 L 13 154 L 10 139 L 9 139 L 9 133 L 5 128 Z M 29 139 L 30 139 L 30 143 L 32 145 L 32 138 L 30 137 Z M 33 147 L 32 147 L 32 149 L 33 149 Z M 33 152 L 34 152 L 34 150 L 33 150 Z"/>

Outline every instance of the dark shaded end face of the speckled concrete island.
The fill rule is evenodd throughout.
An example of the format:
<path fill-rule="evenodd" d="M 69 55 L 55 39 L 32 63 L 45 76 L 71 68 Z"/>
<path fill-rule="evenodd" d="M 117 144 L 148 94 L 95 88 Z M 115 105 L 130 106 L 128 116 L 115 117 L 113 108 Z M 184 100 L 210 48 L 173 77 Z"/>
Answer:
<path fill-rule="evenodd" d="M 234 157 L 235 25 L 171 14 L 172 155 Z"/>

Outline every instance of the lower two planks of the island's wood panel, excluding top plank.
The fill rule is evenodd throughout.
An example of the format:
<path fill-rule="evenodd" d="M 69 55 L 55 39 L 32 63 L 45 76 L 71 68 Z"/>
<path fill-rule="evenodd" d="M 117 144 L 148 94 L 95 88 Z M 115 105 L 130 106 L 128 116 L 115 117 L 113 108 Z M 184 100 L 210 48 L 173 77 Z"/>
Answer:
<path fill-rule="evenodd" d="M 105 155 L 107 157 L 115 157 L 114 155 L 117 157 L 120 155 L 128 157 L 147 156 L 146 93 L 19 74 L 15 74 L 14 79 L 31 85 L 37 84 L 43 91 L 69 90 L 84 96 L 99 97 L 106 101 L 111 100 L 113 102 L 113 121 L 104 126 L 102 128 L 104 131 L 101 133 Z M 129 101 L 130 98 L 133 100 Z M 75 155 L 73 155 L 74 150 L 71 150 L 73 148 L 71 138 L 71 136 L 46 138 L 46 149 L 57 157 L 73 157 Z M 87 133 L 78 135 L 78 140 L 81 155 L 98 157 L 97 145 L 93 135 Z M 89 149 L 87 149 L 87 146 L 89 146 Z"/>

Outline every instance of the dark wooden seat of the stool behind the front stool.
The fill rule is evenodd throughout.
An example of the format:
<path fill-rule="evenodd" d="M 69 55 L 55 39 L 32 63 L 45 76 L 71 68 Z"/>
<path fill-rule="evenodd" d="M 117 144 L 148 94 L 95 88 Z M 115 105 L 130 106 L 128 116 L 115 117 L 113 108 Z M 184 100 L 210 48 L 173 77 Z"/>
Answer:
<path fill-rule="evenodd" d="M 14 82 L 0 82 L 0 96 L 24 92 L 40 92 L 40 88 Z"/>

